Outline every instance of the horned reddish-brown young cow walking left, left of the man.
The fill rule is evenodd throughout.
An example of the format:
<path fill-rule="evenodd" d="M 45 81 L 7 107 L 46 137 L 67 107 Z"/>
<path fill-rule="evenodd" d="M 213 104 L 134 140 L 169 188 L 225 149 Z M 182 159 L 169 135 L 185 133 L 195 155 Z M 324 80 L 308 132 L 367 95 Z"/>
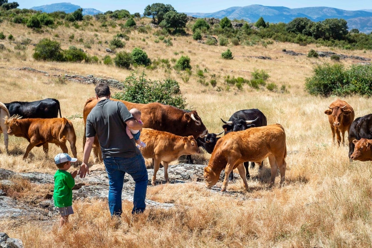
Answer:
<path fill-rule="evenodd" d="M 45 155 L 48 154 L 48 143 L 54 143 L 60 146 L 62 152 L 68 153 L 66 141 L 70 142 L 71 152 L 76 158 L 76 135 L 74 126 L 66 118 L 27 118 L 18 120 L 17 118 L 5 118 L 5 124 L 9 126 L 8 134 L 16 137 L 23 137 L 28 140 L 26 153 L 23 159 L 26 159 L 28 153 L 34 146 L 43 146 Z"/>

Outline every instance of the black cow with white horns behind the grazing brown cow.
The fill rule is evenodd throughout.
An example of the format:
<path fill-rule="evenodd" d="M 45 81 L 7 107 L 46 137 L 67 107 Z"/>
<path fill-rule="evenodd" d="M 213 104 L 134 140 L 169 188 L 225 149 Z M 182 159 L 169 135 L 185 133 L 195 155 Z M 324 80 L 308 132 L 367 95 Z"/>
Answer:
<path fill-rule="evenodd" d="M 222 126 L 225 130 L 225 135 L 230 132 L 243 131 L 250 127 L 263 127 L 267 125 L 266 116 L 256 108 L 239 110 L 232 114 L 228 121 L 224 121 L 222 118 L 221 121 L 225 123 Z M 262 168 L 262 165 L 263 162 L 260 168 Z M 246 168 L 246 178 L 250 178 L 248 171 L 249 162 L 244 162 L 244 167 Z M 254 168 L 254 162 L 251 163 L 251 168 Z M 233 179 L 232 172 L 229 179 Z"/>

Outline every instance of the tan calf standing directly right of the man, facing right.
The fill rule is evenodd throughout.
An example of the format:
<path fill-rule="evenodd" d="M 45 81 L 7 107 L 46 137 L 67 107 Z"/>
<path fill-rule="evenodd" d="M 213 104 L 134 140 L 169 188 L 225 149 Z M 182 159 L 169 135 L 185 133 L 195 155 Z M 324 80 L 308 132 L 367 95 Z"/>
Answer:
<path fill-rule="evenodd" d="M 168 164 L 182 155 L 200 154 L 200 150 L 193 136 L 182 137 L 171 133 L 143 128 L 141 140 L 146 143 L 146 147 L 140 147 L 144 158 L 154 159 L 154 175 L 151 184 L 155 185 L 156 173 L 160 162 L 164 165 L 164 178 L 168 178 Z"/>

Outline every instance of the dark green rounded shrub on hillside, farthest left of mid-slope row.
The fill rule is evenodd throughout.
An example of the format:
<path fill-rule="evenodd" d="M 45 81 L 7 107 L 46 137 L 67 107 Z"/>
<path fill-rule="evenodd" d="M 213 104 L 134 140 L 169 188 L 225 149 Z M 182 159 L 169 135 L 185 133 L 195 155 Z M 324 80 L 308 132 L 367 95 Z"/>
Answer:
<path fill-rule="evenodd" d="M 63 61 L 61 44 L 48 38 L 36 44 L 35 53 L 32 56 L 35 60 Z"/>

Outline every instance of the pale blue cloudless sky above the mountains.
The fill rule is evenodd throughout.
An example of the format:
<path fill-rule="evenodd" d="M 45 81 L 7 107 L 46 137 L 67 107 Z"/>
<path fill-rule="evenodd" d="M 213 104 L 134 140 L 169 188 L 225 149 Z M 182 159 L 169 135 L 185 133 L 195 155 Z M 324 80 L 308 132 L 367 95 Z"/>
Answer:
<path fill-rule="evenodd" d="M 17 0 L 9 0 L 9 2 Z M 33 6 L 41 6 L 44 4 L 71 2 L 72 4 L 80 5 L 83 8 L 93 8 L 105 12 L 107 10 L 126 9 L 131 13 L 140 12 L 148 4 L 164 3 L 171 4 L 178 12 L 201 12 L 212 13 L 218 10 L 227 9 L 233 6 L 247 6 L 251 4 L 261 4 L 266 6 L 284 6 L 289 8 L 301 7 L 316 7 L 326 6 L 334 7 L 344 10 L 360 10 L 372 9 L 372 0 L 296 0 L 296 1 L 275 1 L 275 0 L 260 0 L 260 1 L 244 1 L 244 0 L 170 0 L 170 1 L 157 1 L 157 0 L 105 0 L 105 1 L 92 1 L 92 0 L 18 0 L 19 8 L 31 8 Z"/>

